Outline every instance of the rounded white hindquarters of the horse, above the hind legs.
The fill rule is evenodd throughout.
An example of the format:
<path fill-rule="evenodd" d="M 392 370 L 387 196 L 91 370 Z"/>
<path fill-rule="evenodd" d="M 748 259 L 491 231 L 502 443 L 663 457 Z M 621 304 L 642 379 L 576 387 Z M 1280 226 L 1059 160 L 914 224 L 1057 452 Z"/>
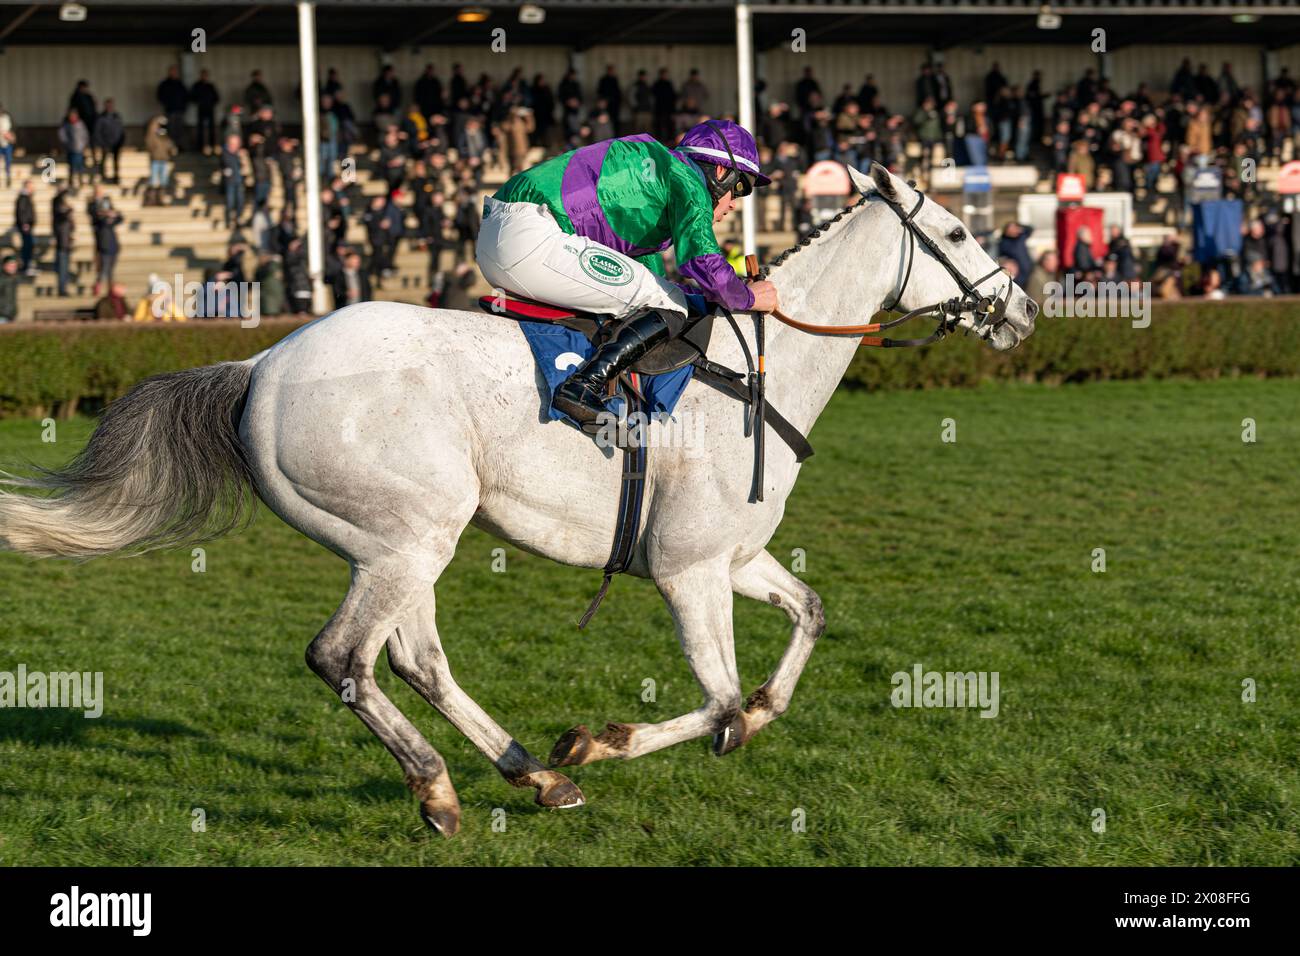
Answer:
<path fill-rule="evenodd" d="M 434 334 L 437 316 L 354 306 L 285 339 L 254 371 L 240 437 L 259 492 L 354 564 L 419 554 L 451 525 L 459 535 L 477 505 L 452 376 L 463 362 Z"/>

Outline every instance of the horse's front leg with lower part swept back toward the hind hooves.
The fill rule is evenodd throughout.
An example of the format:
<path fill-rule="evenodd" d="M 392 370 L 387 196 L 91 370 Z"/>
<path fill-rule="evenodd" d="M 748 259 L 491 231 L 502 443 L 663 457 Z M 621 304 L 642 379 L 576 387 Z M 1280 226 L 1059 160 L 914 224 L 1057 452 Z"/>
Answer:
<path fill-rule="evenodd" d="M 552 766 L 592 763 L 608 757 L 640 757 L 682 740 L 723 732 L 741 709 L 740 675 L 732 644 L 732 584 L 725 559 L 656 578 L 677 624 L 677 639 L 705 702 L 662 723 L 610 723 L 593 735 L 584 726 L 564 734 L 551 750 Z"/>

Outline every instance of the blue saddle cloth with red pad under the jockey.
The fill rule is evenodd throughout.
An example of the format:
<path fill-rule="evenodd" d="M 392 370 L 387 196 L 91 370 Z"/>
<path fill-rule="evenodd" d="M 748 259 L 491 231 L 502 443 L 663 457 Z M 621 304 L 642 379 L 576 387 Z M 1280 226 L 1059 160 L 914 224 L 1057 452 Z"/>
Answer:
<path fill-rule="evenodd" d="M 485 299 L 491 302 L 490 297 L 485 297 Z M 568 415 L 551 407 L 551 395 L 555 393 L 555 389 L 594 351 L 586 336 L 566 325 L 560 325 L 559 320 L 571 319 L 573 312 L 554 306 L 515 299 L 514 297 L 506 299 L 504 308 L 502 308 L 500 302 L 497 303 L 495 308 L 482 302 L 480 304 L 485 307 L 485 311 L 503 311 L 512 319 L 519 320 L 519 328 L 523 329 L 524 338 L 528 339 L 528 346 L 533 350 L 533 359 L 537 362 L 537 367 L 541 369 L 542 378 L 546 382 L 546 414 L 552 420 L 567 421 L 577 428 L 577 423 L 568 418 Z M 528 317 L 525 319 L 524 316 Z M 651 418 L 672 415 L 673 408 L 677 407 L 677 401 L 681 398 L 681 393 L 686 390 L 686 385 L 690 384 L 693 375 L 694 367 L 684 365 L 673 372 L 638 376 L 641 394 L 646 398 L 647 412 Z M 616 415 L 623 415 L 621 395 L 615 395 L 610 399 L 610 410 Z"/>

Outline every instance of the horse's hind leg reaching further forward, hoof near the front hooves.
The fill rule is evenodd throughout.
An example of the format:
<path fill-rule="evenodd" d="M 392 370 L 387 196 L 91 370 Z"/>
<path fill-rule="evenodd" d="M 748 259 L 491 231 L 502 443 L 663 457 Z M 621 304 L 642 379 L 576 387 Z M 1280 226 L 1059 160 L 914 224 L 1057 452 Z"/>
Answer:
<path fill-rule="evenodd" d="M 434 622 L 433 592 L 421 594 L 389 637 L 393 672 L 447 718 L 516 787 L 537 790 L 542 806 L 581 806 L 582 791 L 564 774 L 545 767 L 523 744 L 488 715 L 451 676 Z"/>

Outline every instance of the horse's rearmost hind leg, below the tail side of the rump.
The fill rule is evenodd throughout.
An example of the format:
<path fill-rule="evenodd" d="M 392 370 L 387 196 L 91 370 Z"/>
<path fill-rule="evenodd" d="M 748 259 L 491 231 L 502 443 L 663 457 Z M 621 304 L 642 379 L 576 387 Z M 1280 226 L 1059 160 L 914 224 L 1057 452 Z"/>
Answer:
<path fill-rule="evenodd" d="M 374 658 L 420 588 L 420 576 L 400 567 L 354 567 L 347 597 L 307 648 L 307 665 L 396 758 L 424 822 L 451 836 L 460 801 L 447 765 L 374 683 Z"/>

